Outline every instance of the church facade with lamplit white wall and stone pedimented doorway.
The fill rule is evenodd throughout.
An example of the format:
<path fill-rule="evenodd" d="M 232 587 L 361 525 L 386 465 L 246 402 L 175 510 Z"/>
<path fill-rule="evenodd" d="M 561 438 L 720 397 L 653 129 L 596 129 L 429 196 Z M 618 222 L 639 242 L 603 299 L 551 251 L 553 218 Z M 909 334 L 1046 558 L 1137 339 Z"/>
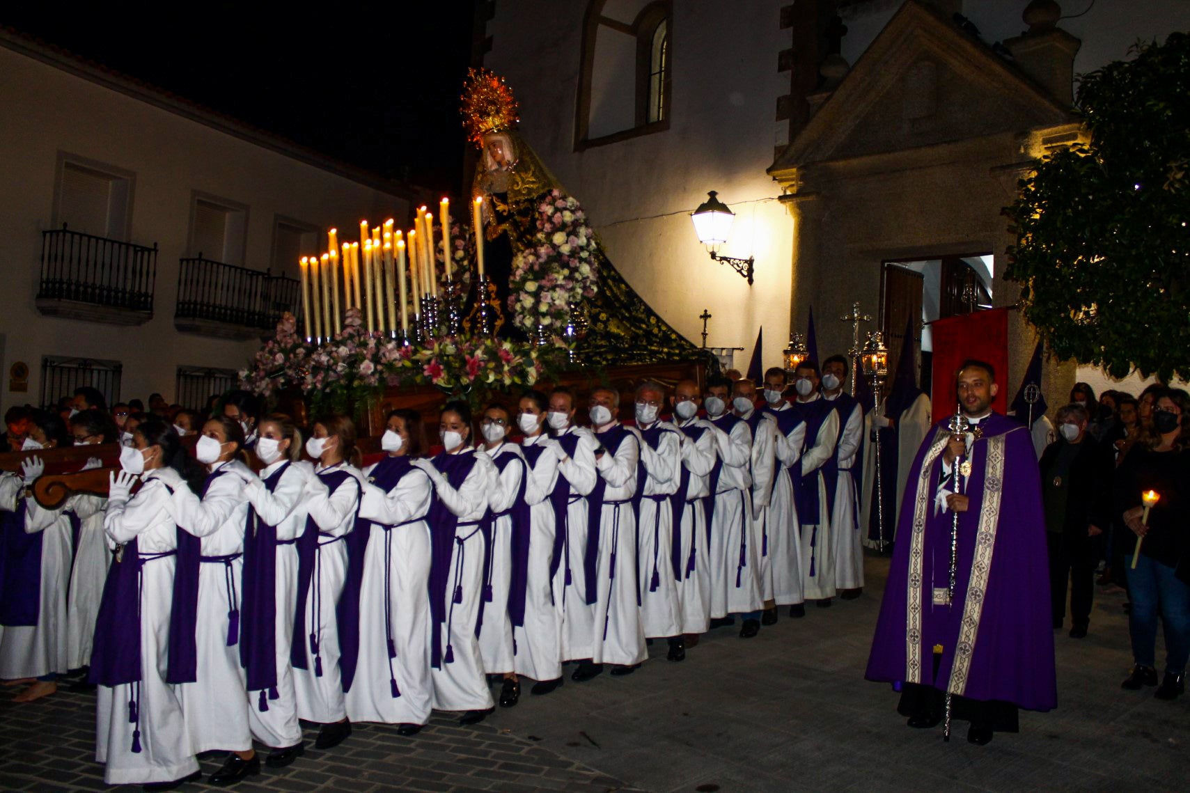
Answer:
<path fill-rule="evenodd" d="M 1161 0 L 591 0 L 486 4 L 476 56 L 508 79 L 521 133 L 585 206 L 628 283 L 687 338 L 779 363 L 813 308 L 822 356 L 858 302 L 892 349 L 928 321 L 1010 306 L 1001 208 L 1033 157 L 1083 135 L 1073 77 L 1190 26 Z M 1069 6 L 1069 7 L 1067 7 Z M 1061 18 L 1063 14 L 1078 14 Z M 1061 18 L 1061 19 L 1059 19 Z M 689 213 L 735 213 L 710 260 Z M 1013 314 L 1015 389 L 1034 338 Z M 1082 376 L 1082 373 L 1079 373 Z M 1051 364 L 1050 404 L 1075 367 Z"/>

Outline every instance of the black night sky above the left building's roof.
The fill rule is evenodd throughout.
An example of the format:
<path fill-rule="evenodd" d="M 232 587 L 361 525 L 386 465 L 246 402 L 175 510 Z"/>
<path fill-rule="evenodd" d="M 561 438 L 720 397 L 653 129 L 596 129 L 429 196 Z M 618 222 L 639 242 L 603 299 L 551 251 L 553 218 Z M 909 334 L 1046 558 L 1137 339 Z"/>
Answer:
<path fill-rule="evenodd" d="M 317 13 L 244 2 L 7 5 L 0 24 L 49 44 L 383 176 L 459 189 L 474 0 L 325 4 Z M 177 11 L 165 21 L 149 8 Z"/>

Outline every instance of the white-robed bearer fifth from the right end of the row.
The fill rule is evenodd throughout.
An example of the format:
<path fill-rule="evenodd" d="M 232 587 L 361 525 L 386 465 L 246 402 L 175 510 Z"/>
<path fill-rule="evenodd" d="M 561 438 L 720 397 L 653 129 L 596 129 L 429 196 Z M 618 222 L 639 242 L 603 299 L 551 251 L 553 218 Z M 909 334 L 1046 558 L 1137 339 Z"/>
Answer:
<path fill-rule="evenodd" d="M 708 487 L 714 494 L 710 516 L 710 626 L 731 625 L 733 611 L 750 612 L 759 597 L 745 570 L 746 543 L 752 531 L 752 430 L 747 422 L 727 411 L 732 382 L 709 377 L 703 407 L 707 418 L 699 426 L 715 441 L 719 461 L 710 470 Z M 753 567 L 753 569 L 756 569 Z M 759 619 L 745 619 L 741 638 L 760 630 Z"/>

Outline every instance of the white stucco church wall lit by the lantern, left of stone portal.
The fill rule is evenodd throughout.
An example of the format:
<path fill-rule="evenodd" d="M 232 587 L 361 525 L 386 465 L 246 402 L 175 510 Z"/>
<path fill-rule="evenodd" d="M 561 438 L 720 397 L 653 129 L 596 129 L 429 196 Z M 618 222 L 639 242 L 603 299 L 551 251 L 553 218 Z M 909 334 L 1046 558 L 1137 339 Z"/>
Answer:
<path fill-rule="evenodd" d="M 777 364 L 789 341 L 793 225 L 765 169 L 777 98 L 789 92 L 789 74 L 777 71 L 777 54 L 789 46 L 789 31 L 779 29 L 783 2 L 675 2 L 670 129 L 576 152 L 585 5 L 497 4 L 484 65 L 508 79 L 521 133 L 585 206 L 633 289 L 695 343 L 699 314 L 709 308 L 708 344 L 747 348 L 738 366 L 763 325 L 764 363 Z M 699 244 L 689 212 L 707 191 L 737 214 L 720 252 L 756 257 L 751 288 Z"/>

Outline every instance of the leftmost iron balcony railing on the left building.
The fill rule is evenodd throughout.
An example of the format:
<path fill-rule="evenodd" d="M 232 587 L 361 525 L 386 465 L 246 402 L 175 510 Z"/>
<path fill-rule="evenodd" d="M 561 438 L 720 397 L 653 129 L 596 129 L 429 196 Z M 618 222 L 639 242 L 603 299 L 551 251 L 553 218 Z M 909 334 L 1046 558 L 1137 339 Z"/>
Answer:
<path fill-rule="evenodd" d="M 67 229 L 42 232 L 38 299 L 152 313 L 157 245 L 144 248 Z"/>

